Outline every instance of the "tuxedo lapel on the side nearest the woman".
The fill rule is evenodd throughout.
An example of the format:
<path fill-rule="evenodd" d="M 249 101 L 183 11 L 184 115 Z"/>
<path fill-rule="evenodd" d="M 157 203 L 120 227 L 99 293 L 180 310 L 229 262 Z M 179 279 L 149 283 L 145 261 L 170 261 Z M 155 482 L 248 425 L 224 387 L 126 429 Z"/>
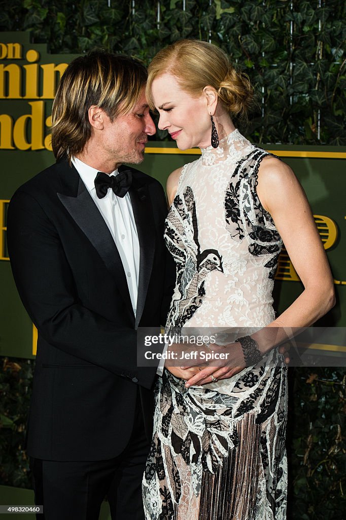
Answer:
<path fill-rule="evenodd" d="M 132 211 L 134 212 L 136 221 L 140 250 L 135 325 L 135 328 L 137 329 L 143 314 L 144 304 L 147 298 L 148 285 L 153 268 L 155 252 L 155 225 L 148 185 L 142 185 L 141 180 L 136 178 L 136 174 L 134 174 L 129 193 L 131 198 Z"/>

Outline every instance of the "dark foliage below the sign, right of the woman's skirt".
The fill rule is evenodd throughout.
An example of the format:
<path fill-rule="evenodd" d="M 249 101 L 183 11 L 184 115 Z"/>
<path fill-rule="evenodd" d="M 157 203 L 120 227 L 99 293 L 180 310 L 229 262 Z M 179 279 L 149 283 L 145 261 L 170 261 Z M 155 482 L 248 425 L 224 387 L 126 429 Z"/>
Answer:
<path fill-rule="evenodd" d="M 346 371 L 295 369 L 289 419 L 292 520 L 344 520 Z"/>

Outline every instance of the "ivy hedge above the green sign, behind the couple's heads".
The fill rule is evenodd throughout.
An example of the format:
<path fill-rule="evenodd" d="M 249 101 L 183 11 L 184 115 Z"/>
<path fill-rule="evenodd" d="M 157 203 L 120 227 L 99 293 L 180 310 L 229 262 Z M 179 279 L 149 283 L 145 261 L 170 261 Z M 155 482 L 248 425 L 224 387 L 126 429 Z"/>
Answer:
<path fill-rule="evenodd" d="M 256 86 L 260 110 L 246 132 L 252 140 L 346 145 L 346 4 L 320 3 L 185 0 L 183 10 L 182 0 L 136 0 L 134 8 L 130 0 L 2 0 L 0 30 L 28 30 L 51 53 L 102 46 L 146 64 L 180 38 L 210 40 Z"/>

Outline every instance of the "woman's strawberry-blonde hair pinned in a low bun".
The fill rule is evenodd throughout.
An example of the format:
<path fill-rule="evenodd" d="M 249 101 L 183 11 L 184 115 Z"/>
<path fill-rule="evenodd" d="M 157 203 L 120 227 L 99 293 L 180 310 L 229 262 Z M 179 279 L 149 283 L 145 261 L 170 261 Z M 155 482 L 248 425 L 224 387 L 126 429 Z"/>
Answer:
<path fill-rule="evenodd" d="M 227 54 L 211 43 L 180 40 L 154 56 L 145 92 L 151 109 L 154 108 L 152 82 L 165 73 L 174 75 L 181 88 L 193 97 L 201 96 L 207 85 L 214 87 L 222 105 L 233 116 L 246 117 L 254 105 L 254 88 L 247 74 L 237 71 Z"/>

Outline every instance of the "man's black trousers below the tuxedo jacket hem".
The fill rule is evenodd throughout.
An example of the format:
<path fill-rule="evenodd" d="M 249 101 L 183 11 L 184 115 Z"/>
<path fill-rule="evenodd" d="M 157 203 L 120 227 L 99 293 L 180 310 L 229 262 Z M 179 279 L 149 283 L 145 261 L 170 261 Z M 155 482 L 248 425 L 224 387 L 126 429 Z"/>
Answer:
<path fill-rule="evenodd" d="M 107 497 L 112 520 L 144 520 L 141 481 L 149 452 L 139 395 L 125 450 L 103 461 L 59 462 L 30 458 L 37 520 L 98 520 Z M 121 427 L 121 424 L 119 424 Z"/>

